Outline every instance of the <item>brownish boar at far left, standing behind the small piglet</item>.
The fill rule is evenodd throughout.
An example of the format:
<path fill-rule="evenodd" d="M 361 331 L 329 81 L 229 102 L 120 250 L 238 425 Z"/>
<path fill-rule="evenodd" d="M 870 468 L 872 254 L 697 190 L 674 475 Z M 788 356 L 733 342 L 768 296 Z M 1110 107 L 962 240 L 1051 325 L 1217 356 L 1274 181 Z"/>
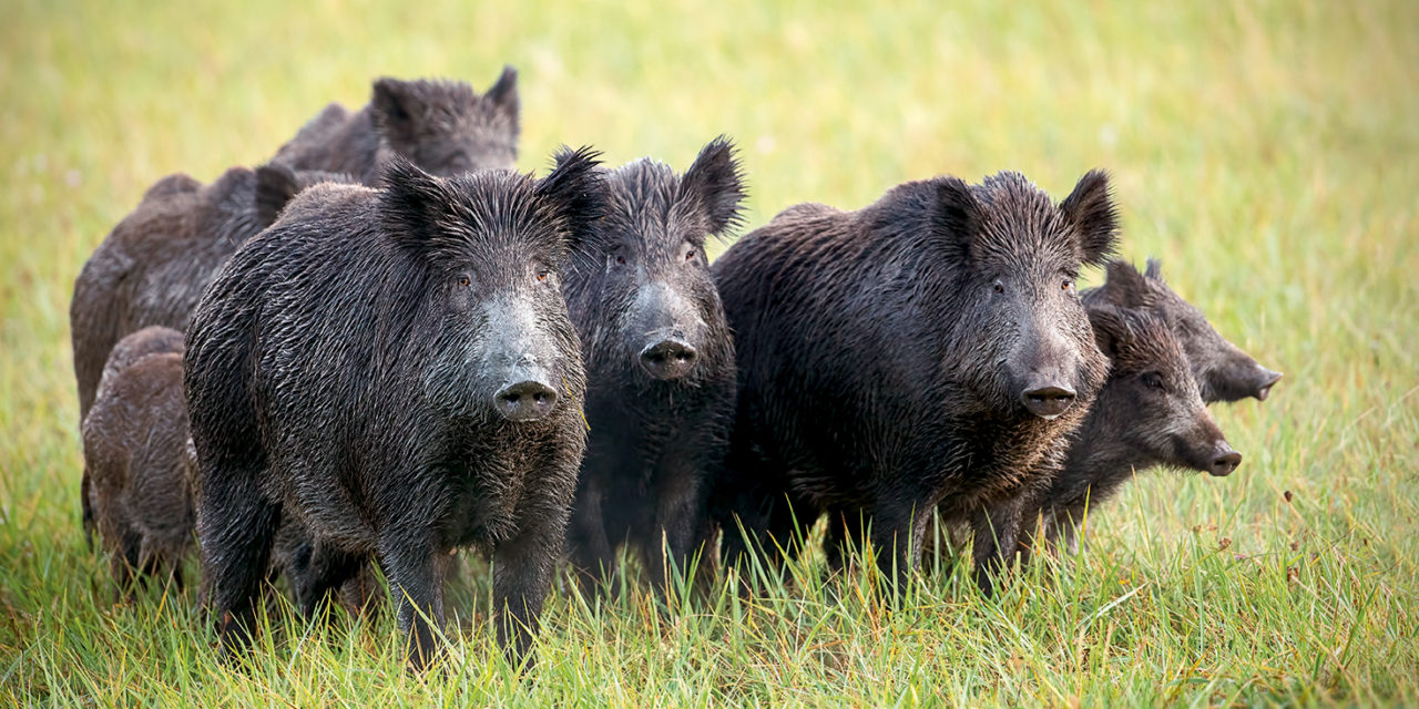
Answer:
<path fill-rule="evenodd" d="M 272 164 L 233 167 L 201 186 L 170 174 L 114 227 L 94 251 L 70 302 L 70 342 L 78 380 L 79 421 L 94 406 L 109 350 L 150 325 L 186 330 L 207 284 L 237 247 L 257 235 L 295 191 L 348 177 Z M 282 199 L 284 197 L 284 199 Z M 84 533 L 92 535 L 88 478 L 81 482 Z"/>

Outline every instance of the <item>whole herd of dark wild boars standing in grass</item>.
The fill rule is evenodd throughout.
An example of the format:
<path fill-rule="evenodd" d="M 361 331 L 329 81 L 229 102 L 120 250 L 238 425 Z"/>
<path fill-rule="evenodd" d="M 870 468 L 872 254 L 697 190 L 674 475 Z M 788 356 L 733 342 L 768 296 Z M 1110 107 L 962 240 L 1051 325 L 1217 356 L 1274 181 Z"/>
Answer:
<path fill-rule="evenodd" d="M 1206 404 L 1281 377 L 1110 259 L 1103 172 L 1060 201 L 1002 172 L 799 204 L 710 264 L 746 193 L 729 140 L 535 179 L 518 121 L 511 68 L 481 95 L 380 79 L 114 228 L 70 323 L 84 532 L 119 588 L 182 584 L 200 547 L 231 654 L 277 577 L 315 617 L 377 562 L 416 668 L 464 547 L 515 661 L 563 563 L 604 591 L 626 546 L 661 594 L 735 567 L 753 593 L 741 564 L 822 516 L 833 573 L 871 545 L 908 583 L 939 519 L 990 593 L 1137 471 L 1230 474 Z M 1086 267 L 1107 282 L 1078 292 Z"/>

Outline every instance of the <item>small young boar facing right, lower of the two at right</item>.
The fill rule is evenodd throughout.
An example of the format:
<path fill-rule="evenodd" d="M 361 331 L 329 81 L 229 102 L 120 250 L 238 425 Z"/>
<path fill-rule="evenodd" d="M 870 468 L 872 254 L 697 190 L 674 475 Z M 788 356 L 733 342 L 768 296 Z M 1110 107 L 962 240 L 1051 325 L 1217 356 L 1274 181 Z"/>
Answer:
<path fill-rule="evenodd" d="M 1154 467 L 1230 475 L 1242 464 L 1208 414 L 1182 342 L 1166 322 L 1145 311 L 1091 305 L 1087 308 L 1100 350 L 1110 360 L 1108 379 L 1049 485 L 1019 501 L 1019 513 L 990 510 L 973 520 L 976 583 L 990 593 L 992 579 L 1005 563 L 996 530 L 1019 525 L 1020 559 L 1044 542 L 1064 536 L 1071 546 L 1084 520 L 1134 478 Z M 1037 539 L 1043 530 L 1044 539 Z M 1002 539 L 1005 542 L 1005 539 Z"/>

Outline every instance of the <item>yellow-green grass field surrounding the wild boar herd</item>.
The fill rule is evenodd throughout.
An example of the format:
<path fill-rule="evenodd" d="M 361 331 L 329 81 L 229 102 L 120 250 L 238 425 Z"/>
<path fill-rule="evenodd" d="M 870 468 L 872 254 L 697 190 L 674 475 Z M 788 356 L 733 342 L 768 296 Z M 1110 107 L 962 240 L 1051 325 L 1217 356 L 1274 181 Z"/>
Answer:
<path fill-rule="evenodd" d="M 1419 703 L 1419 4 L 487 4 L 4 3 L 0 705 Z M 373 77 L 484 88 L 504 62 L 522 169 L 559 143 L 683 167 L 728 133 L 751 227 L 938 173 L 1061 197 L 1107 167 L 1124 255 L 1287 376 L 1215 408 L 1237 474 L 1142 476 L 1086 554 L 995 600 L 948 566 L 893 607 L 817 559 L 674 613 L 559 593 L 521 681 L 478 571 L 421 678 L 387 615 L 272 608 L 233 671 L 194 594 L 115 604 L 78 522 L 91 250 L 158 177 L 257 164 Z"/>

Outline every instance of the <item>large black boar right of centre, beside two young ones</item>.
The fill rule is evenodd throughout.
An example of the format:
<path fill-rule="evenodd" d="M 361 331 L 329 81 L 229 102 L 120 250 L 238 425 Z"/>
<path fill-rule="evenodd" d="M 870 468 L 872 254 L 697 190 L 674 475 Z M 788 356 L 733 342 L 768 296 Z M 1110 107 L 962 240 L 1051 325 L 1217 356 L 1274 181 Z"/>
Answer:
<path fill-rule="evenodd" d="M 731 247 L 712 269 L 739 381 L 711 502 L 725 563 L 773 560 L 827 512 L 834 567 L 870 523 L 900 581 L 932 508 L 969 519 L 1030 484 L 1104 380 L 1074 281 L 1115 233 L 1103 172 L 1059 206 L 1005 172 L 796 207 Z"/>

